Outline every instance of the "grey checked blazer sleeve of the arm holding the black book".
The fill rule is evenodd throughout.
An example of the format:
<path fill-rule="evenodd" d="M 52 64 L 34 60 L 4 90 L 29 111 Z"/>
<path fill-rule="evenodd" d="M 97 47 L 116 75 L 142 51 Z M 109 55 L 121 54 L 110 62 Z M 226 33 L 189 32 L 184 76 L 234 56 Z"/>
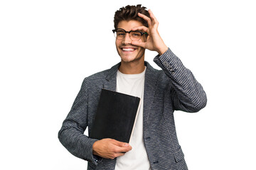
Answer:
<path fill-rule="evenodd" d="M 88 162 L 97 164 L 92 154 L 92 145 L 95 141 L 84 135 L 87 128 L 87 82 L 82 82 L 82 87 L 75 98 L 73 106 L 68 113 L 67 118 L 63 121 L 63 125 L 58 132 L 58 138 L 61 144 L 68 151 Z"/>

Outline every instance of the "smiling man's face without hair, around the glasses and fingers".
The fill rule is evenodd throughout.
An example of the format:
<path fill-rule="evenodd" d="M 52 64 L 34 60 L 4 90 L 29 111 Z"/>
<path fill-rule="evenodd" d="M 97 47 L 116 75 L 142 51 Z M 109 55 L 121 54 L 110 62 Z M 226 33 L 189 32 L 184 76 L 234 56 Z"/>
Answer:
<path fill-rule="evenodd" d="M 117 28 L 122 28 L 124 30 L 130 31 L 132 28 L 143 26 L 139 21 L 120 21 Z M 145 41 L 144 35 L 139 41 Z M 129 33 L 125 35 L 122 40 L 116 39 L 116 47 L 119 56 L 123 62 L 134 62 L 138 60 L 144 60 L 145 49 L 143 47 L 135 46 L 131 44 L 132 40 L 129 38 Z"/>

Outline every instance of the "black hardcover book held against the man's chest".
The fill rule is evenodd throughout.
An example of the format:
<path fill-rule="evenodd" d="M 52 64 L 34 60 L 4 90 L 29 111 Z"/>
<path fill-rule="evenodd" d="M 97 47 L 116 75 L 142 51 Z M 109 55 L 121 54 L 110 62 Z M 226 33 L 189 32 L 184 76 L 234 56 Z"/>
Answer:
<path fill-rule="evenodd" d="M 129 143 L 139 104 L 138 97 L 102 89 L 90 137 Z"/>

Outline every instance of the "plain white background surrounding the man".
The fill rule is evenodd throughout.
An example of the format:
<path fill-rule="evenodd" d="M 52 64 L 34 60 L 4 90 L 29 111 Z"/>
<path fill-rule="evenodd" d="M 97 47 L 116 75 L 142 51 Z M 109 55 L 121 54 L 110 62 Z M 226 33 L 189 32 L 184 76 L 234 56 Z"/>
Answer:
<path fill-rule="evenodd" d="M 254 1 L 0 1 L 0 169 L 86 169 L 58 141 L 82 80 L 119 62 L 114 12 L 151 8 L 208 95 L 176 112 L 190 170 L 256 169 Z M 146 51 L 153 62 L 156 52 Z"/>

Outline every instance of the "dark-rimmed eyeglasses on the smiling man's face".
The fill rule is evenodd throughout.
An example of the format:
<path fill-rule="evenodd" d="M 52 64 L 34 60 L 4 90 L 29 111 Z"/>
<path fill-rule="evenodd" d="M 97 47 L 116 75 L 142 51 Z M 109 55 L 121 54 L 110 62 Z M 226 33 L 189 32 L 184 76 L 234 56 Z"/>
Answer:
<path fill-rule="evenodd" d="M 125 38 L 126 33 L 129 33 L 129 38 L 131 38 L 131 40 L 137 41 L 140 40 L 142 38 L 142 35 L 147 35 L 148 33 L 142 33 L 139 30 L 130 30 L 130 31 L 126 31 L 122 28 L 117 28 L 116 30 L 112 30 L 114 33 L 114 37 L 117 38 L 118 40 L 122 40 Z"/>

